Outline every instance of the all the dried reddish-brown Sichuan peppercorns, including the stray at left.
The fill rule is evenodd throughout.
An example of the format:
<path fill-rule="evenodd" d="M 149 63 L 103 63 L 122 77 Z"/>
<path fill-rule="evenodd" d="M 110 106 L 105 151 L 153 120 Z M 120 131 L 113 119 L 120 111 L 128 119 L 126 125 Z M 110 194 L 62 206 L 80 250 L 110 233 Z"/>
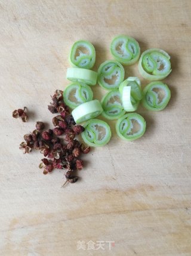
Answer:
<path fill-rule="evenodd" d="M 84 166 L 84 162 L 79 157 L 81 153 L 89 153 L 90 146 L 85 147 L 75 138 L 76 135 L 84 131 L 84 127 L 75 124 L 69 107 L 63 102 L 63 91 L 57 90 L 51 98 L 53 103 L 48 106 L 48 110 L 53 114 L 59 113 L 53 118 L 55 128 L 45 131 L 44 123 L 36 122 L 36 129 L 32 133 L 24 135 L 25 141 L 20 143 L 19 148 L 23 149 L 23 153 L 30 153 L 32 149 L 39 150 L 45 157 L 39 164 L 39 168 L 44 169 L 44 174 L 50 173 L 54 169 L 64 169 L 65 183 L 75 183 L 78 176 L 74 173 L 77 170 L 82 170 Z M 22 115 L 27 116 L 24 110 L 19 109 L 13 112 L 14 118 L 19 118 Z M 26 122 L 27 120 L 22 119 L 22 121 Z M 62 135 L 61 138 L 58 137 L 60 135 Z"/>

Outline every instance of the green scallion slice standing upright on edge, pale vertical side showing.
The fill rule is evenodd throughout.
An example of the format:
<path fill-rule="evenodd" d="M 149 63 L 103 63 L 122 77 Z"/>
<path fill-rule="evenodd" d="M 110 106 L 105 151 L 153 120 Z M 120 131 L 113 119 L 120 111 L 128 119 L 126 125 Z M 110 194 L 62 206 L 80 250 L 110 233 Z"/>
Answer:
<path fill-rule="evenodd" d="M 128 77 L 119 86 L 119 92 L 124 110 L 127 112 L 137 110 L 139 101 L 143 97 L 140 80 L 137 77 Z"/>

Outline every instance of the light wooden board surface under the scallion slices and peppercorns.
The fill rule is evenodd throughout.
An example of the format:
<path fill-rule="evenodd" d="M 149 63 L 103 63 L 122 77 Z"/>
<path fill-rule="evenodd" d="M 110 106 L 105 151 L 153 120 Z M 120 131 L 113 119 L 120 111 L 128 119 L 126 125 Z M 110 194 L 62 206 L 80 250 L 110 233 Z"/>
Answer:
<path fill-rule="evenodd" d="M 191 255 L 190 7 L 189 0 L 0 1 L 0 255 Z M 171 55 L 170 104 L 159 113 L 140 107 L 147 130 L 131 143 L 110 122 L 109 144 L 85 156 L 79 182 L 61 189 L 63 171 L 44 176 L 42 155 L 23 155 L 19 143 L 36 121 L 51 127 L 47 105 L 69 84 L 70 46 L 90 40 L 97 70 L 112 58 L 118 34 L 136 38 L 141 52 L 159 47 Z M 125 68 L 128 76 L 148 83 L 137 64 Z M 93 91 L 98 99 L 106 93 Z M 24 106 L 26 124 L 11 117 Z M 115 246 L 77 250 L 78 240 Z"/>

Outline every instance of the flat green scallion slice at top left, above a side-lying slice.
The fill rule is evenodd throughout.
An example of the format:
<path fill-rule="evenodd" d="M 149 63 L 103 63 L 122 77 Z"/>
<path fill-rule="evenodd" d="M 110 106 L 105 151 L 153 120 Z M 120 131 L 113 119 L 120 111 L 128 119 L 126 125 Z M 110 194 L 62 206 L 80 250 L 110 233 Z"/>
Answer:
<path fill-rule="evenodd" d="M 70 63 L 73 67 L 90 69 L 96 61 L 96 50 L 88 41 L 80 40 L 70 50 Z"/>

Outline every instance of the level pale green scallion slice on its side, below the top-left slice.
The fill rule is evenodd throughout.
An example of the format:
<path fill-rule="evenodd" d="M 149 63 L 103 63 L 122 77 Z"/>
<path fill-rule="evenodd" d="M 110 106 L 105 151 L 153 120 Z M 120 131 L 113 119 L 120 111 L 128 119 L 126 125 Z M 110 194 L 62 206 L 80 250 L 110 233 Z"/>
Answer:
<path fill-rule="evenodd" d="M 92 70 L 85 70 L 85 68 L 67 68 L 66 78 L 72 82 L 96 85 L 97 73 Z"/>

